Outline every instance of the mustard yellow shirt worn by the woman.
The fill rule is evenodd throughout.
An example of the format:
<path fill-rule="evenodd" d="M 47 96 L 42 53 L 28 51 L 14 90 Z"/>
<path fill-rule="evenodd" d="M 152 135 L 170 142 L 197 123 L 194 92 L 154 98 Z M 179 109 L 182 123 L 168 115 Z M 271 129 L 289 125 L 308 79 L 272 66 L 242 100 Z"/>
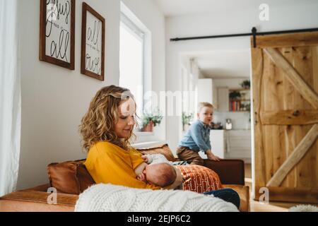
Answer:
<path fill-rule="evenodd" d="M 136 189 L 161 189 L 136 179 L 134 169 L 143 162 L 136 149 L 124 150 L 107 141 L 95 143 L 88 152 L 84 165 L 97 184 L 110 183 Z"/>

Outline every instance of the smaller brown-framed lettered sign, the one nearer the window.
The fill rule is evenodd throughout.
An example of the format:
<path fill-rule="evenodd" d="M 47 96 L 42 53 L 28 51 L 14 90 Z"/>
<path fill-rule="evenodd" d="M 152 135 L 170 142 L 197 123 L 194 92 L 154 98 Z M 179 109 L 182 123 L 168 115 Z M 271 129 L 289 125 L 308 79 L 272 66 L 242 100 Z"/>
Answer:
<path fill-rule="evenodd" d="M 104 81 L 105 18 L 83 2 L 81 73 Z"/>

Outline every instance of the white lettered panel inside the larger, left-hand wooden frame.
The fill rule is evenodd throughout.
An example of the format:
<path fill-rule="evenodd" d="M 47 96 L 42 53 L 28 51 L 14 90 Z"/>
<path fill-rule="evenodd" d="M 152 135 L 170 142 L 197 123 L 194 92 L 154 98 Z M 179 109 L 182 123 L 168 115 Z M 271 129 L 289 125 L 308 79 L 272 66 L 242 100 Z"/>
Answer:
<path fill-rule="evenodd" d="M 69 62 L 71 55 L 71 3 L 68 0 L 47 0 L 45 54 Z"/>

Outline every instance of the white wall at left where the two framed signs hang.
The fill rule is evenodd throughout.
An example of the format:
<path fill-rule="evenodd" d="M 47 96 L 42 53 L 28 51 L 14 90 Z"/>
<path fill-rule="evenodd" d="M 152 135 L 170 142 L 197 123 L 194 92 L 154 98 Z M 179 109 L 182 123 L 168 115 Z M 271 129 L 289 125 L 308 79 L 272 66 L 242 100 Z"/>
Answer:
<path fill-rule="evenodd" d="M 40 1 L 19 1 L 22 131 L 17 189 L 47 180 L 50 162 L 85 158 L 78 125 L 96 91 L 119 83 L 120 1 L 86 0 L 106 20 L 105 81 L 84 76 L 81 68 L 81 0 L 76 0 L 75 70 L 39 61 Z M 165 22 L 151 2 L 126 0 L 153 32 L 154 89 L 165 89 Z M 138 16 L 138 15 L 137 15 Z M 165 128 L 160 138 L 165 138 Z"/>

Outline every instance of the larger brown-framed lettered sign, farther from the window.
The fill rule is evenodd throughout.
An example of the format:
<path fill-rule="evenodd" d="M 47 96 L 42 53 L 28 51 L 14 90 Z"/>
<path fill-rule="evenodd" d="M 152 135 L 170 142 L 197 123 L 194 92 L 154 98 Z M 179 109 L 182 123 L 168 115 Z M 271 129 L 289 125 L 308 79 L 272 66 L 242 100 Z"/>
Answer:
<path fill-rule="evenodd" d="M 74 70 L 75 0 L 40 0 L 40 60 Z"/>

